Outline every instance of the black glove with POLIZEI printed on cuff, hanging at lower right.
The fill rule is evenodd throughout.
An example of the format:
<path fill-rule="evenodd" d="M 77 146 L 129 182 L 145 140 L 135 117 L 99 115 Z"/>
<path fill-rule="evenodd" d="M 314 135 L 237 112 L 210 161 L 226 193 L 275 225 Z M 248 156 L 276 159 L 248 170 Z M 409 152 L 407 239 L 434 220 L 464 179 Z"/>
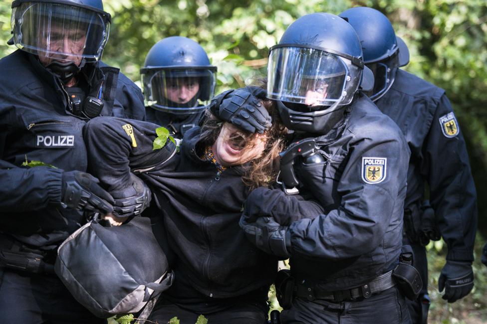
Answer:
<path fill-rule="evenodd" d="M 449 261 L 442 269 L 438 279 L 438 290 L 445 288 L 443 299 L 449 303 L 467 296 L 474 288 L 474 272 L 471 262 Z"/>

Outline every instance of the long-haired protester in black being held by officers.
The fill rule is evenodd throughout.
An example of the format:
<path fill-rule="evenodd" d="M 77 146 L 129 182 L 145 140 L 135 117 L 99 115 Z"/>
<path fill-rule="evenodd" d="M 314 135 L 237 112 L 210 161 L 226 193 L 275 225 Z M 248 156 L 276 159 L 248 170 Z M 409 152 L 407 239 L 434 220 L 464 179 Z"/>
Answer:
<path fill-rule="evenodd" d="M 200 314 L 212 324 L 266 320 L 277 259 L 248 242 L 239 227 L 248 192 L 274 182 L 286 134 L 273 104 L 262 104 L 258 111 L 272 116 L 262 134 L 209 118 L 185 133 L 179 151 L 169 140 L 154 151 L 157 126 L 151 123 L 97 118 L 85 127 L 94 174 L 109 192 L 130 186 L 131 171 L 142 178 L 153 192 L 151 215 L 162 217 L 176 255 L 175 279 L 150 321 L 177 316 L 196 323 Z"/>

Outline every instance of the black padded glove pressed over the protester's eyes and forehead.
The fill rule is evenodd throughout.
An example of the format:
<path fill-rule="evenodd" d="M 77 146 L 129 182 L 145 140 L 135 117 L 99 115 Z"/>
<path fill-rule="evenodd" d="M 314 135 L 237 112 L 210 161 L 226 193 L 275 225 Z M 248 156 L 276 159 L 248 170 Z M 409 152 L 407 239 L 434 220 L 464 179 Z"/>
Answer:
<path fill-rule="evenodd" d="M 262 134 L 272 126 L 269 113 L 257 99 L 265 99 L 265 94 L 258 87 L 225 91 L 213 98 L 210 110 L 221 120 L 250 133 Z"/>

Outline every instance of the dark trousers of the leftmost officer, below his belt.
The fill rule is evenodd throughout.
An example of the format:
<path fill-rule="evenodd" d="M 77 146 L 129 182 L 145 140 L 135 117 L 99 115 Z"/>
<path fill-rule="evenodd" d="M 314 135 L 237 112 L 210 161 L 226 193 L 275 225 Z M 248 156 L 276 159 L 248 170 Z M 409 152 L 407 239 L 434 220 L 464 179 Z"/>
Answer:
<path fill-rule="evenodd" d="M 54 275 L 0 268 L 3 324 L 104 324 L 81 306 Z"/>

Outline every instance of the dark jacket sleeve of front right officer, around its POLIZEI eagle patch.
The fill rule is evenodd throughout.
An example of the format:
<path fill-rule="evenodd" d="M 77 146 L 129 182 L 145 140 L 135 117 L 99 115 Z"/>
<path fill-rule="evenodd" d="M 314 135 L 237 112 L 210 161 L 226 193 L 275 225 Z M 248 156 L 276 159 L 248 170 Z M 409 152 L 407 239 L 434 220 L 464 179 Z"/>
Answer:
<path fill-rule="evenodd" d="M 357 130 L 349 160 L 337 185 L 338 208 L 314 219 L 301 219 L 289 227 L 293 253 L 307 257 L 344 259 L 376 249 L 385 233 L 401 237 L 410 151 L 398 132 L 377 125 Z M 378 134 L 380 132 L 380 134 Z M 396 135 L 396 136 L 394 136 Z M 363 159 L 386 159 L 384 178 L 363 179 Z"/>

